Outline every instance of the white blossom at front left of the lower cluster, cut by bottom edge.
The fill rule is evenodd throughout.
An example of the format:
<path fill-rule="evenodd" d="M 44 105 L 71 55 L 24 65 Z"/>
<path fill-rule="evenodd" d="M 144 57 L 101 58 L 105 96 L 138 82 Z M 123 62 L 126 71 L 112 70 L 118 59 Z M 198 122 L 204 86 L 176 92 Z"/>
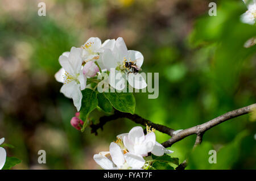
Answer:
<path fill-rule="evenodd" d="M 127 153 L 112 142 L 109 151 L 103 151 L 93 156 L 94 161 L 105 170 L 141 169 L 145 163 L 141 155 Z"/>

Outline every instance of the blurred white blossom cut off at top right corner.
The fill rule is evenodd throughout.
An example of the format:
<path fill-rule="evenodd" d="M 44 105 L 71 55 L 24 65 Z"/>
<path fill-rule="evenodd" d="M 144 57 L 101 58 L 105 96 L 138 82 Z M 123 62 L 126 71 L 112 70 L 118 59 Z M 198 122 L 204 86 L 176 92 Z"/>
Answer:
<path fill-rule="evenodd" d="M 256 1 L 243 0 L 247 6 L 247 11 L 241 15 L 241 21 L 247 24 L 254 24 L 256 18 Z"/>

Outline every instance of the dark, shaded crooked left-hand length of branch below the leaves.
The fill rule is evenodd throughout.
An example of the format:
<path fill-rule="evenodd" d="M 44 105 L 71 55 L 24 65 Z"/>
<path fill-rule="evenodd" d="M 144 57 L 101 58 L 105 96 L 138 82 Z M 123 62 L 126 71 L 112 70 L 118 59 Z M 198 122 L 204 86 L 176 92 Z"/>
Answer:
<path fill-rule="evenodd" d="M 111 120 L 115 120 L 115 119 L 118 119 L 118 118 L 128 118 L 132 121 L 134 121 L 135 123 L 138 123 L 138 124 L 141 124 L 143 126 L 151 126 L 152 128 L 155 128 L 157 131 L 160 131 L 162 133 L 166 133 L 168 134 L 169 136 L 173 136 L 174 134 L 174 129 L 171 129 L 171 128 L 168 128 L 164 125 L 160 125 L 160 124 L 155 124 L 155 123 L 152 123 L 151 121 L 149 120 L 146 120 L 144 118 L 142 118 L 141 116 L 137 115 L 137 114 L 134 114 L 132 115 L 131 113 L 126 113 L 126 112 L 120 112 L 120 111 L 117 111 L 115 110 L 114 114 L 111 115 L 111 116 L 103 116 L 100 118 L 100 123 L 98 124 L 91 124 L 90 127 L 92 128 L 92 133 L 95 133 L 97 135 L 97 130 L 98 129 L 103 129 L 103 126 L 108 123 L 108 121 L 111 121 Z"/>

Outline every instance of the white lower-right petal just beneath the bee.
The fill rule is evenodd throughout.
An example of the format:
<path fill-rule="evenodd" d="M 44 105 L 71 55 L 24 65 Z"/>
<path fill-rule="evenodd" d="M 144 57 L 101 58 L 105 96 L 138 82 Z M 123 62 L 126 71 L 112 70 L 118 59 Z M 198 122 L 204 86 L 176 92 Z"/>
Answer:
<path fill-rule="evenodd" d="M 127 79 L 129 84 L 135 89 L 144 89 L 145 87 L 147 87 L 146 81 L 139 73 L 130 73 L 129 75 L 127 75 Z"/>

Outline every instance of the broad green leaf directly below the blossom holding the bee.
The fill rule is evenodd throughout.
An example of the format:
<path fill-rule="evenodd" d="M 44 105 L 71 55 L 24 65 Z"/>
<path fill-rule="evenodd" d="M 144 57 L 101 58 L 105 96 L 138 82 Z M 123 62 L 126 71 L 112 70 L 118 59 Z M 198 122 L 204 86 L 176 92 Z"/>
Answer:
<path fill-rule="evenodd" d="M 135 98 L 131 92 L 104 92 L 104 95 L 116 110 L 134 113 Z"/>

